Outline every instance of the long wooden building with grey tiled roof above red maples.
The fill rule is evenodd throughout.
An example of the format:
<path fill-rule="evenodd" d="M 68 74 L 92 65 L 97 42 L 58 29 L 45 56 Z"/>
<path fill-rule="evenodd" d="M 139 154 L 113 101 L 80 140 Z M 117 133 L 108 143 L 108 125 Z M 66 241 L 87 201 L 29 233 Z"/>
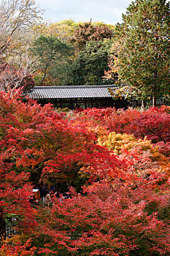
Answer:
<path fill-rule="evenodd" d="M 52 103 L 54 108 L 128 108 L 129 102 L 122 97 L 113 99 L 109 89 L 115 89 L 114 85 L 109 86 L 35 86 L 28 96 L 36 99 L 42 105 Z M 137 106 L 137 101 L 130 102 L 130 105 Z"/>

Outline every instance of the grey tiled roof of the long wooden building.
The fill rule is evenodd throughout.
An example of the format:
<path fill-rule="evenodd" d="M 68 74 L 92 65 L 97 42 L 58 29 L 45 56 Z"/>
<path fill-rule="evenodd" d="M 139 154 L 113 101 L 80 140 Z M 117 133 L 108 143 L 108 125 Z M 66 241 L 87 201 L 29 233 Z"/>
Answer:
<path fill-rule="evenodd" d="M 108 88 L 115 86 L 35 86 L 28 96 L 31 99 L 112 97 Z"/>

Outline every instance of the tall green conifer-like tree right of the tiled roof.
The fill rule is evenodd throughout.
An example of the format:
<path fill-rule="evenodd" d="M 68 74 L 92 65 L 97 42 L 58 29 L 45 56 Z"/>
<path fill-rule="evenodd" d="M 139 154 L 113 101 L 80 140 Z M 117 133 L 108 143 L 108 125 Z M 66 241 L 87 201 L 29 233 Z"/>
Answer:
<path fill-rule="evenodd" d="M 170 89 L 169 13 L 166 0 L 136 0 L 115 28 L 111 69 L 136 97 L 151 97 L 153 106 Z"/>

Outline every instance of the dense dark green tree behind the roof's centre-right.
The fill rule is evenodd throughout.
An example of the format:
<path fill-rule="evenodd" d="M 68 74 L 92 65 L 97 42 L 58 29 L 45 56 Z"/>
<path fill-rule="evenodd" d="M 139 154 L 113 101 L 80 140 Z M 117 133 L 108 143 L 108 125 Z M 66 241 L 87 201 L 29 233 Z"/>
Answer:
<path fill-rule="evenodd" d="M 80 86 L 104 84 L 104 70 L 109 69 L 108 58 L 111 45 L 112 42 L 109 39 L 87 42 L 74 63 L 67 67 L 68 75 L 63 78 L 63 83 Z M 109 80 L 110 82 L 114 83 L 114 80 Z"/>

